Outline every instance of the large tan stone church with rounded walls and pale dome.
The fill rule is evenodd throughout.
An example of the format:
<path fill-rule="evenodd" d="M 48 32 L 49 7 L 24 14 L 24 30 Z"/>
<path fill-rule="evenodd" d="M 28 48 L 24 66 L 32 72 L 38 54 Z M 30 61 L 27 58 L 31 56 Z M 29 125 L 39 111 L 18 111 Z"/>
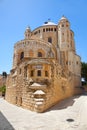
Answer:
<path fill-rule="evenodd" d="M 33 31 L 26 28 L 14 45 L 6 86 L 8 102 L 36 112 L 81 93 L 81 58 L 65 16 L 58 24 L 48 20 Z"/>

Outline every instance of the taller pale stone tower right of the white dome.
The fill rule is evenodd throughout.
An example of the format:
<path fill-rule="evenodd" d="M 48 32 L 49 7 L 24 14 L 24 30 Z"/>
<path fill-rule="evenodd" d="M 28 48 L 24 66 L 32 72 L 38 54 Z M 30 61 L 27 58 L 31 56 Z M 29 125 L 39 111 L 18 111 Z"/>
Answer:
<path fill-rule="evenodd" d="M 70 29 L 70 23 L 62 16 L 58 23 L 58 43 L 61 51 L 75 51 L 74 33 Z"/>

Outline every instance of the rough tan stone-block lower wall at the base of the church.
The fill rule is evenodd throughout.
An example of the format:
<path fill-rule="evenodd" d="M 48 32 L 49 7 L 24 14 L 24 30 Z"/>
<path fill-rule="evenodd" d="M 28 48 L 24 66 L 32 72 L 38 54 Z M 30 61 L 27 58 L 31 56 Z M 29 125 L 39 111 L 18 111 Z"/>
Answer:
<path fill-rule="evenodd" d="M 23 65 L 21 65 L 22 68 L 24 68 Z M 32 111 L 44 112 L 57 102 L 81 93 L 80 88 L 74 87 L 74 76 L 70 75 L 68 70 L 62 70 L 62 67 L 56 63 L 51 65 L 51 71 L 51 79 L 47 86 L 31 87 L 32 83 L 29 77 L 28 79 L 24 77 L 23 69 L 21 75 L 16 75 L 14 84 L 12 81 L 14 75 L 13 78 L 10 75 L 7 79 L 6 100 Z M 41 91 L 42 94 L 35 94 L 37 91 Z"/>

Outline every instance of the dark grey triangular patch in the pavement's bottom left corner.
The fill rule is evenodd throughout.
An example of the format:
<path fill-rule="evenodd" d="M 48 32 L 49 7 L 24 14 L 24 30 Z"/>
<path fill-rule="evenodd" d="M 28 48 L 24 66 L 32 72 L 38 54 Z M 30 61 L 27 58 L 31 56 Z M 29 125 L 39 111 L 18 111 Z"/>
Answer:
<path fill-rule="evenodd" d="M 0 112 L 0 130 L 15 130 L 1 112 Z"/>

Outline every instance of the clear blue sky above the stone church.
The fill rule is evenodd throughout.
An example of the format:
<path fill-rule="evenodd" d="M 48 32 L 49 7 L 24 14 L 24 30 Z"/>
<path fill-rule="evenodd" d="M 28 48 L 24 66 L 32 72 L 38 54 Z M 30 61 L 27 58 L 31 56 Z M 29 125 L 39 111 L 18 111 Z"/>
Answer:
<path fill-rule="evenodd" d="M 87 0 L 0 0 L 0 73 L 10 72 L 14 44 L 49 18 L 65 15 L 75 34 L 76 52 L 87 62 Z"/>

